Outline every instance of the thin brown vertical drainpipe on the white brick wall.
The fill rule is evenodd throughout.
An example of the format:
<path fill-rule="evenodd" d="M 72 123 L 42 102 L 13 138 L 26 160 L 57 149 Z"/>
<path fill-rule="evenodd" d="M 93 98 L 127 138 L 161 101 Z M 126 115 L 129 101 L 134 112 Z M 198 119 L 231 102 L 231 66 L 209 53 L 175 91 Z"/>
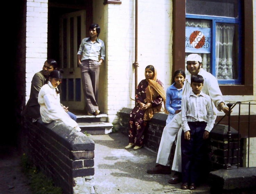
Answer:
<path fill-rule="evenodd" d="M 135 61 L 132 64 L 135 70 L 135 94 L 138 85 L 138 0 L 135 0 Z"/>

